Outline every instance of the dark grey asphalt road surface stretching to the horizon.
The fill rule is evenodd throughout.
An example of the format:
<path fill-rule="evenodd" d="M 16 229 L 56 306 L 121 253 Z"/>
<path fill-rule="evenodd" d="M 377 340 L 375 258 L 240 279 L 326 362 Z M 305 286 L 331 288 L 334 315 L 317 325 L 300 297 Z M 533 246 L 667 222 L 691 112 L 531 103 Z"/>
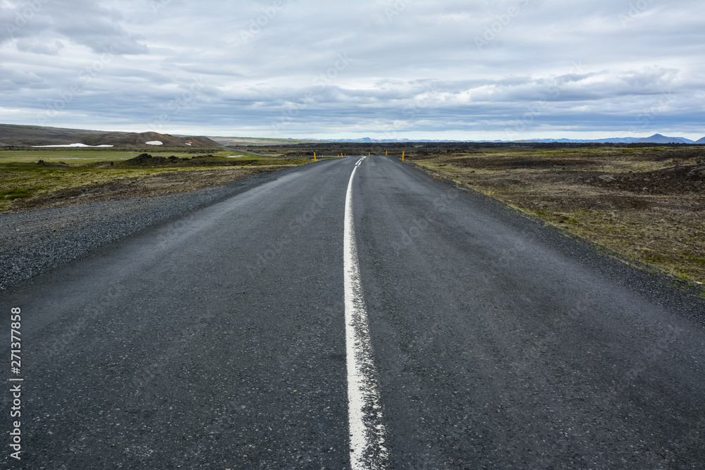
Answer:
<path fill-rule="evenodd" d="M 6 330 L 22 309 L 24 378 L 21 460 L 3 445 L 3 468 L 349 468 L 357 160 L 2 292 Z M 365 159 L 352 188 L 381 464 L 705 466 L 703 302 L 398 159 Z M 9 331 L 0 350 L 10 384 Z"/>

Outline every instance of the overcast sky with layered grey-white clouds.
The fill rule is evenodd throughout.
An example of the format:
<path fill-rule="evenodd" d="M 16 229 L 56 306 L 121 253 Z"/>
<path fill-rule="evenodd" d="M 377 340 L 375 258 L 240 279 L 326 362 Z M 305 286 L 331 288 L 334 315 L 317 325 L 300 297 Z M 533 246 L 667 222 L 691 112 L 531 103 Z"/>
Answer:
<path fill-rule="evenodd" d="M 0 123 L 705 136 L 702 0 L 0 0 Z"/>

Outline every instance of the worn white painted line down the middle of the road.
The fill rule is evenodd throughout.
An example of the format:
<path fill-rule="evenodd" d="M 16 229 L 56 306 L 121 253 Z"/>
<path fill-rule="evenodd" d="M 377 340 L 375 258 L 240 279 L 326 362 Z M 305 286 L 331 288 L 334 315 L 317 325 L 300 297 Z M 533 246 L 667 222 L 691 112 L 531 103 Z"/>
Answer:
<path fill-rule="evenodd" d="M 353 229 L 353 178 L 362 157 L 355 163 L 345 196 L 343 229 L 343 280 L 345 286 L 345 349 L 348 363 L 348 423 L 350 424 L 350 468 L 384 469 L 388 459 L 382 424 L 376 369 L 369 340 L 367 309 L 362 297 L 360 264 Z"/>

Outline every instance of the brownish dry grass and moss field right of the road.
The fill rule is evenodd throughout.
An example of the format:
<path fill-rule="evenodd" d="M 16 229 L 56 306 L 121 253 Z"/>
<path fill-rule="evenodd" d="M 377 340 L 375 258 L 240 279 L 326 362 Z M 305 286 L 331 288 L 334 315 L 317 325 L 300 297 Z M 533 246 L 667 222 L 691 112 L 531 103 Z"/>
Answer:
<path fill-rule="evenodd" d="M 705 283 L 705 147 L 476 149 L 431 173 L 694 285 Z"/>

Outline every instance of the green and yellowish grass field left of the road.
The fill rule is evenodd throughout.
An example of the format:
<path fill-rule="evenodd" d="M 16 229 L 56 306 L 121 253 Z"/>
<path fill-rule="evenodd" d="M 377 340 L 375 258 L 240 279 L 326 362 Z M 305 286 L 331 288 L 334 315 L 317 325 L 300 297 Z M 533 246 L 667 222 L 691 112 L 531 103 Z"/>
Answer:
<path fill-rule="evenodd" d="M 310 161 L 225 149 L 199 149 L 208 155 L 200 158 L 183 147 L 147 150 L 178 159 L 130 160 L 142 149 L 0 149 L 0 212 L 173 194 Z"/>

